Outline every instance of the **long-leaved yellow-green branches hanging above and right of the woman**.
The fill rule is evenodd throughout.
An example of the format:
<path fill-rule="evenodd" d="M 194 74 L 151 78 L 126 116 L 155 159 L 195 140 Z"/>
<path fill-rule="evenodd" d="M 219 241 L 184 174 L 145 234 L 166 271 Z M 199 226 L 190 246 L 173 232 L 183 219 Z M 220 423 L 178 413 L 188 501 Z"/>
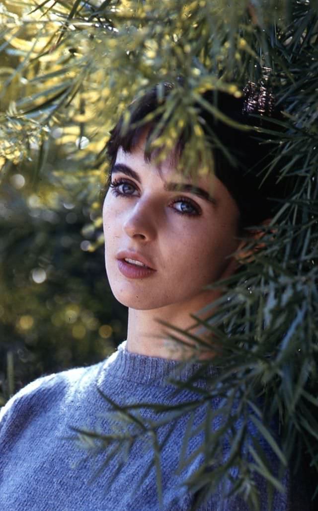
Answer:
<path fill-rule="evenodd" d="M 207 403 L 213 397 L 223 398 L 224 426 L 217 432 L 209 430 L 212 412 L 207 412 L 206 424 L 202 425 L 208 431 L 207 440 L 198 448 L 198 452 L 205 455 L 206 464 L 186 484 L 189 489 L 201 489 L 204 500 L 219 481 L 231 479 L 231 469 L 236 467 L 239 476 L 234 481 L 234 490 L 242 492 L 251 507 L 257 509 L 253 472 L 262 473 L 272 486 L 280 487 L 280 482 L 266 466 L 256 439 L 249 445 L 249 458 L 242 449 L 250 420 L 277 453 L 282 467 L 293 456 L 305 451 L 315 478 L 318 470 L 315 418 L 318 406 L 317 3 L 307 0 L 234 3 L 110 0 L 103 3 L 48 1 L 32 5 L 31 10 L 30 3 L 4 2 L 0 13 L 3 38 L 0 47 L 3 83 L 0 157 L 3 174 L 23 166 L 23 175 L 37 182 L 41 193 L 42 187 L 47 195 L 54 187 L 65 188 L 72 190 L 77 200 L 80 198 L 93 205 L 96 190 L 103 182 L 101 174 L 106 170 L 108 130 L 131 100 L 145 90 L 157 85 L 160 98 L 165 81 L 176 85 L 163 107 L 173 115 L 158 144 L 171 149 L 182 127 L 191 121 L 185 172 L 190 167 L 195 168 L 198 158 L 206 155 L 200 119 L 193 109 L 202 92 L 218 89 L 239 96 L 242 87 L 252 81 L 271 87 L 278 104 L 283 106 L 284 133 L 275 135 L 273 127 L 268 135 L 277 141 L 273 162 L 279 164 L 281 176 L 293 182 L 291 194 L 281 204 L 271 224 L 263 227 L 262 250 L 224 282 L 225 293 L 218 300 L 217 313 L 214 310 L 212 314 L 212 307 L 207 307 L 206 311 L 211 310 L 211 314 L 204 322 L 199 314 L 193 316 L 198 324 L 210 330 L 216 352 L 213 363 L 224 368 L 217 378 L 209 381 L 209 389 L 202 396 Z M 182 86 L 177 83 L 180 75 L 184 79 Z M 128 125 L 129 116 L 125 121 Z M 52 160 L 53 154 L 58 157 Z M 28 159 L 32 166 L 26 164 Z M 269 167 L 267 172 L 271 170 Z M 28 235 L 12 229 L 14 234 L 3 243 L 7 247 L 3 249 L 6 255 L 11 239 L 16 247 L 30 247 L 26 238 L 35 240 L 39 229 L 38 220 L 33 215 L 30 217 L 30 206 L 26 205 L 23 194 L 17 194 L 13 188 L 8 190 L 5 194 L 14 193 L 14 200 L 21 202 L 20 210 L 14 206 L 14 211 L 29 215 L 32 225 L 28 225 Z M 43 203 L 48 201 L 47 195 Z M 61 205 L 58 212 L 66 215 Z M 10 222 L 14 222 L 14 215 Z M 96 214 L 93 218 L 92 233 L 94 222 L 99 225 L 99 216 Z M 87 218 L 82 218 L 82 223 L 85 222 Z M 78 244 L 79 228 L 75 225 L 72 234 Z M 15 277 L 16 304 L 25 296 L 17 289 L 18 282 L 23 282 L 24 278 L 27 283 L 26 275 L 31 269 L 40 267 L 46 271 L 48 266 L 54 267 L 54 258 L 51 253 L 46 254 L 45 245 L 46 240 L 55 236 L 55 229 L 48 221 L 45 237 L 37 243 L 35 254 L 30 252 L 30 262 L 23 261 L 25 276 Z M 93 236 L 98 239 L 98 233 Z M 98 245 L 97 242 L 92 247 L 98 250 Z M 32 246 L 36 246 L 35 242 Z M 22 255 L 26 253 L 23 250 L 28 248 L 19 248 Z M 18 253 L 18 249 L 11 253 Z M 41 257 L 45 259 L 40 264 Z M 77 270 L 81 268 L 82 258 L 80 251 L 72 253 L 72 265 Z M 5 263 L 6 257 L 1 271 L 10 311 L 13 303 L 8 292 L 10 272 Z M 55 267 L 50 269 L 57 288 L 59 279 L 65 280 L 70 271 L 66 259 L 62 267 L 59 276 L 55 275 Z M 82 278 L 80 275 L 79 280 Z M 26 285 L 34 286 L 30 280 L 23 284 Z M 78 285 L 77 281 L 76 289 Z M 52 303 L 51 288 L 47 288 L 47 294 L 45 286 L 42 289 L 34 298 L 34 305 L 28 304 L 30 310 L 23 304 L 21 313 L 33 317 L 33 308 L 38 306 L 36 300 L 46 299 Z M 68 296 L 72 290 L 74 286 L 70 284 Z M 94 290 L 91 300 L 95 303 L 91 310 L 101 318 L 101 304 L 95 296 Z M 62 308 L 69 303 L 67 300 L 61 302 Z M 89 298 L 85 294 L 85 303 L 86 300 Z M 77 304 L 80 309 L 81 303 L 80 300 Z M 8 320 L 8 339 L 17 335 L 12 317 L 18 310 L 11 312 Z M 56 327 L 51 328 L 54 336 Z M 200 337 L 193 338 L 189 332 L 180 332 L 172 325 L 166 325 L 166 329 L 170 339 L 181 342 L 182 333 L 183 338 L 188 336 L 195 340 L 198 353 L 207 350 Z M 33 339 L 31 336 L 31 344 L 35 342 Z M 192 384 L 188 382 L 189 387 Z M 235 409 L 229 413 L 234 402 Z M 200 400 L 192 403 L 192 411 L 200 404 Z M 137 403 L 121 408 L 121 420 L 134 420 L 133 410 L 147 406 L 151 407 Z M 189 404 L 174 410 L 166 407 L 165 411 L 169 421 L 172 412 L 189 411 Z M 271 430 L 273 419 L 277 417 L 282 439 L 280 447 Z M 242 423 L 237 429 L 235 424 L 239 420 Z M 139 433 L 155 435 L 156 427 L 159 425 L 141 423 Z M 84 433 L 86 437 L 101 439 L 94 432 Z M 191 434 L 189 423 L 180 467 L 189 463 L 185 453 Z M 225 439 L 231 444 L 229 461 L 211 472 L 209 464 L 217 458 Z M 104 440 L 107 445 L 118 442 L 124 445 L 126 440 L 129 445 L 133 442 L 129 435 L 125 438 L 113 435 Z M 158 460 L 160 446 L 154 440 L 152 447 L 154 460 Z M 297 469 L 301 470 L 300 466 Z M 160 481 L 159 468 L 157 473 Z"/>

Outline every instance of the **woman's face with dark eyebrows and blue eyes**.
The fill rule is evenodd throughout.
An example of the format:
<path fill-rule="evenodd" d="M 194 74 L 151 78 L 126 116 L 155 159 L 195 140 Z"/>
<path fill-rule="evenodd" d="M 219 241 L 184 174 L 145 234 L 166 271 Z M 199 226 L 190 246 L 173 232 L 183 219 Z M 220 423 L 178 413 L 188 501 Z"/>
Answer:
<path fill-rule="evenodd" d="M 229 256 L 239 245 L 238 207 L 213 175 L 190 182 L 168 159 L 160 170 L 144 159 L 144 136 L 131 153 L 119 148 L 103 207 L 108 280 L 116 299 L 132 309 L 199 309 L 211 295 L 202 287 L 235 270 Z M 173 190 L 169 183 L 200 187 L 211 199 Z M 117 260 L 123 250 L 138 252 L 156 271 L 142 278 L 124 275 Z"/>

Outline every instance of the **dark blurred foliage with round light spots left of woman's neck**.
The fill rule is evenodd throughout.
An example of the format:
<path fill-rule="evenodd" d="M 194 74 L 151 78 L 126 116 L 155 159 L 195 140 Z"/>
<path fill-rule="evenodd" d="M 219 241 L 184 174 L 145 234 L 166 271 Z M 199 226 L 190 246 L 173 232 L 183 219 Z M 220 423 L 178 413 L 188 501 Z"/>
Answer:
<path fill-rule="evenodd" d="M 100 207 L 71 202 L 49 183 L 37 193 L 16 189 L 23 179 L 3 176 L 0 211 L 0 371 L 6 352 L 14 355 L 15 389 L 101 360 L 123 340 L 127 315 L 112 298 L 102 246 L 92 250 L 102 236 Z M 5 387 L 3 399 L 13 390 Z"/>

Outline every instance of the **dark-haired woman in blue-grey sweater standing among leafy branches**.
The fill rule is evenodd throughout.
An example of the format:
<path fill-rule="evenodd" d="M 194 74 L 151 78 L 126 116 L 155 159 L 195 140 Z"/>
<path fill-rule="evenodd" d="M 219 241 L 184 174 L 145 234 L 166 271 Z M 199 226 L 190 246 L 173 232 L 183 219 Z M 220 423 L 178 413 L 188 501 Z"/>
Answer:
<path fill-rule="evenodd" d="M 170 90 L 166 85 L 166 95 Z M 252 125 L 255 118 L 250 113 L 263 112 L 264 101 L 249 94 L 247 90 L 245 97 L 234 98 L 219 93 L 215 98 L 208 93 L 204 99 L 210 104 L 217 100 L 218 108 L 232 120 Z M 156 90 L 152 90 L 133 104 L 132 126 L 157 106 Z M 270 104 L 266 108 L 271 113 Z M 244 229 L 268 220 L 273 208 L 267 198 L 273 196 L 269 193 L 273 181 L 265 180 L 260 189 L 258 177 L 268 145 L 261 146 L 253 130 L 243 132 L 216 122 L 204 108 L 200 114 L 206 133 L 214 130 L 234 154 L 236 165 L 222 149 L 214 148 L 215 173 L 198 179 L 185 178 L 177 170 L 187 127 L 160 165 L 146 144 L 160 122 L 159 113 L 151 123 L 139 123 L 124 134 L 120 120 L 112 132 L 103 207 L 105 262 L 115 298 L 129 308 L 127 340 L 99 364 L 36 380 L 4 407 L 0 420 L 2 511 L 241 511 L 248 509 L 244 497 L 252 502 L 252 509 L 258 504 L 262 511 L 268 509 L 271 492 L 262 474 L 255 473 L 253 487 L 244 487 L 239 495 L 231 494 L 239 477 L 235 467 L 227 480 L 217 480 L 218 468 L 229 460 L 229 443 L 224 442 L 221 457 L 205 459 L 200 451 L 209 438 L 209 431 L 201 427 L 206 414 L 211 414 L 211 431 L 224 426 L 221 411 L 217 413 L 221 400 L 201 400 L 207 389 L 204 380 L 192 390 L 181 385 L 178 391 L 168 380 L 174 376 L 186 382 L 202 364 L 191 362 L 178 370 L 178 360 L 192 354 L 191 343 L 183 338 L 188 351 L 177 350 L 167 342 L 162 322 L 200 333 L 207 346 L 201 358 L 213 360 L 209 336 L 190 314 L 218 298 L 220 289 L 205 287 L 238 268 Z M 246 174 L 252 168 L 254 172 Z M 210 364 L 207 374 L 213 378 L 220 370 Z M 118 405 L 133 403 L 154 407 L 116 413 Z M 188 403 L 188 410 L 178 415 L 174 406 L 181 403 Z M 159 405 L 170 406 L 168 420 Z M 252 436 L 257 435 L 252 424 L 249 429 Z M 80 431 L 100 433 L 100 438 Z M 265 440 L 261 442 L 277 477 L 278 458 Z M 188 456 L 183 466 L 181 452 Z M 191 478 L 198 471 L 202 486 L 193 489 Z M 211 474 L 217 481 L 214 485 Z M 273 509 L 308 509 L 301 481 L 291 482 L 288 469 L 280 479 L 284 491 L 274 491 Z"/>

